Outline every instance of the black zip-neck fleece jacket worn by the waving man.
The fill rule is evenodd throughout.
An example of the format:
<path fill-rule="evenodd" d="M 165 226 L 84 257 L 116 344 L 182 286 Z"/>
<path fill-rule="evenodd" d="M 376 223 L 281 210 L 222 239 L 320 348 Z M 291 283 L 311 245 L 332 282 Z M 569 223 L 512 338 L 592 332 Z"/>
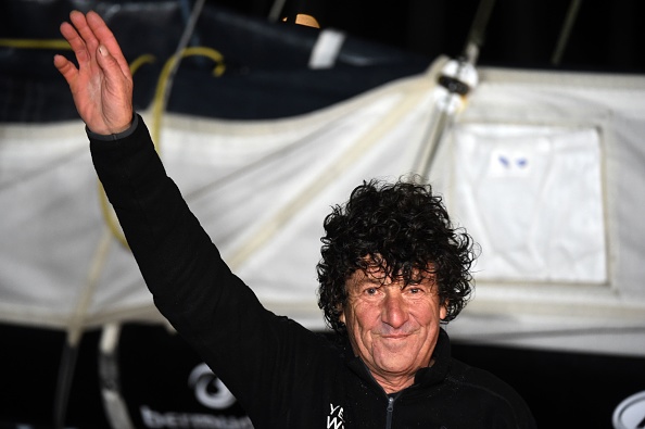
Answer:
<path fill-rule="evenodd" d="M 346 339 L 337 344 L 274 315 L 229 270 L 166 176 L 140 117 L 117 140 L 89 136 L 99 178 L 156 306 L 255 428 L 535 427 L 509 386 L 451 358 L 443 330 L 435 364 L 420 369 L 414 386 L 385 394 Z"/>

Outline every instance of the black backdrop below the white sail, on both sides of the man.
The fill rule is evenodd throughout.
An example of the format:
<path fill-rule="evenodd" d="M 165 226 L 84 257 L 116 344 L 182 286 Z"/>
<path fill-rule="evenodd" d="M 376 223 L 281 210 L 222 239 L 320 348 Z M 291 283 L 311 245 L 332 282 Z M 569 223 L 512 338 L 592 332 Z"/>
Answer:
<path fill-rule="evenodd" d="M 99 330 L 80 344 L 66 427 L 109 429 L 100 394 Z M 51 428 L 62 331 L 0 325 L 0 428 Z M 538 426 L 549 429 L 610 429 L 611 415 L 628 396 L 645 389 L 645 358 L 544 350 L 453 344 L 453 355 L 510 383 L 528 402 Z M 201 361 L 165 327 L 128 324 L 118 343 L 123 396 L 137 424 L 140 404 L 154 409 L 199 412 L 186 389 L 186 374 Z M 203 408 L 203 407 L 202 407 Z M 202 412 L 211 412 L 202 409 Z M 232 411 L 229 413 L 237 413 Z M 137 426 L 142 427 L 142 426 Z"/>

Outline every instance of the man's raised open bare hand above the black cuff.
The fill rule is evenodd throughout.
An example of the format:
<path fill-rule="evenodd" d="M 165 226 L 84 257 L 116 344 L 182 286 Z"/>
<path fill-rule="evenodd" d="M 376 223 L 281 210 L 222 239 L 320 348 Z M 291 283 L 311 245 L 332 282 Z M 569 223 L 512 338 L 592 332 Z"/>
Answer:
<path fill-rule="evenodd" d="M 110 135 L 126 130 L 132 119 L 132 76 L 114 35 L 96 12 L 69 14 L 61 24 L 78 68 L 63 55 L 54 56 L 87 127 Z"/>

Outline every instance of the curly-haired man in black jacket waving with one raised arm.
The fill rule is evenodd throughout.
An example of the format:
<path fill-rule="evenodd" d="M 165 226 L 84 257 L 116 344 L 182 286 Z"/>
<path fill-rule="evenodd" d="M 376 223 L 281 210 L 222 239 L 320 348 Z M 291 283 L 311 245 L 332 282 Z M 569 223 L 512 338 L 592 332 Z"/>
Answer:
<path fill-rule="evenodd" d="M 328 342 L 229 270 L 132 111 L 114 36 L 93 12 L 69 17 L 61 33 L 78 68 L 54 64 L 154 302 L 256 428 L 535 427 L 509 386 L 451 358 L 440 324 L 470 295 L 472 243 L 429 187 L 364 182 L 325 219 L 319 305 L 339 333 Z"/>

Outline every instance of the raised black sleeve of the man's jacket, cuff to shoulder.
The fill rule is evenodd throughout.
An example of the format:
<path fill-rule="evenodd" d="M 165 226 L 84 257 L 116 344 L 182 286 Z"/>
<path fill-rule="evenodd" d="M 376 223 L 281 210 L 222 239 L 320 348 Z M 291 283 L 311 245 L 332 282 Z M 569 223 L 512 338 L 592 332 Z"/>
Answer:
<path fill-rule="evenodd" d="M 319 354 L 309 349 L 318 340 L 265 310 L 230 272 L 167 177 L 140 117 L 125 138 L 89 137 L 94 167 L 155 305 L 252 418 L 277 424 L 298 371 Z"/>

